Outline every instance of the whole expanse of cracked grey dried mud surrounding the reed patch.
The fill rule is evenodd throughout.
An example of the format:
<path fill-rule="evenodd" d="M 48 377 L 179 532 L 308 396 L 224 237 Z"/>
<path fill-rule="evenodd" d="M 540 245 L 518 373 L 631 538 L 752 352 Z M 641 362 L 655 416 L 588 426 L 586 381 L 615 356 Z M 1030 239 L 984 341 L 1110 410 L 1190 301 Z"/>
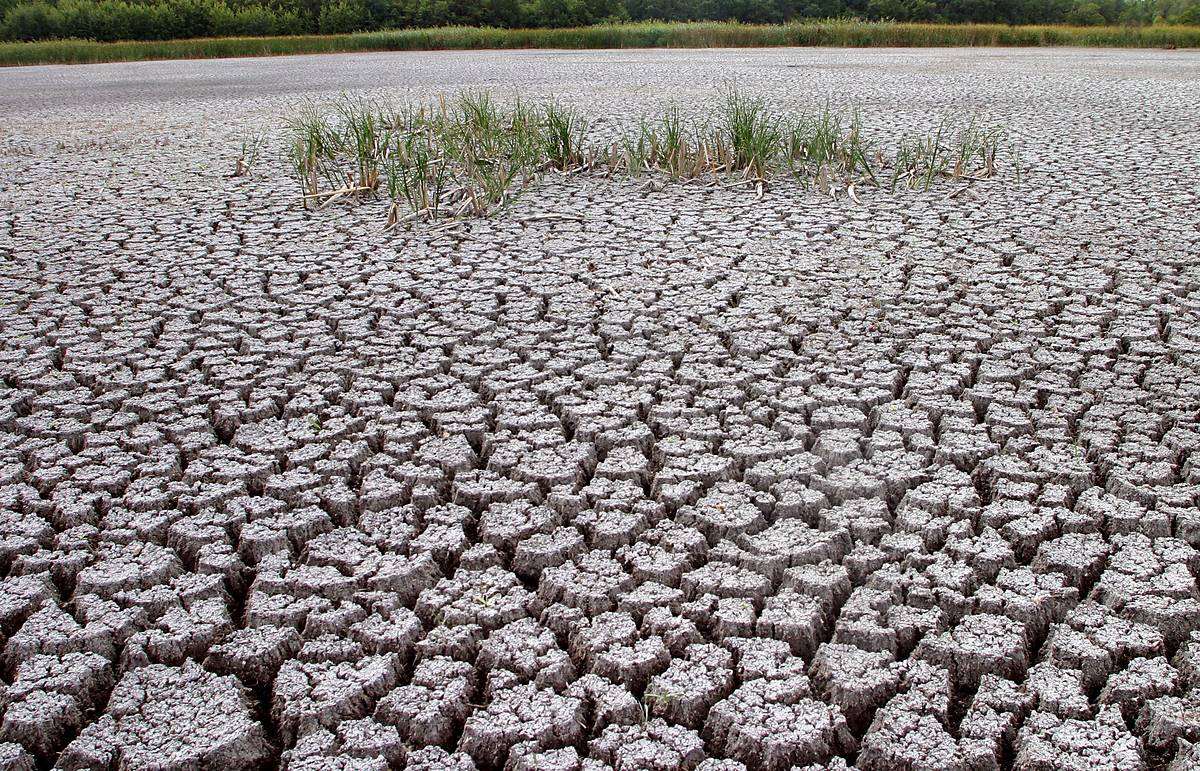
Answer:
<path fill-rule="evenodd" d="M 223 177 L 304 94 L 727 78 L 1027 171 L 388 237 Z M 1166 52 L 0 72 L 0 766 L 1198 767 L 1198 102 Z"/>

